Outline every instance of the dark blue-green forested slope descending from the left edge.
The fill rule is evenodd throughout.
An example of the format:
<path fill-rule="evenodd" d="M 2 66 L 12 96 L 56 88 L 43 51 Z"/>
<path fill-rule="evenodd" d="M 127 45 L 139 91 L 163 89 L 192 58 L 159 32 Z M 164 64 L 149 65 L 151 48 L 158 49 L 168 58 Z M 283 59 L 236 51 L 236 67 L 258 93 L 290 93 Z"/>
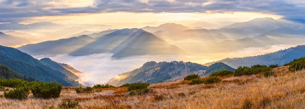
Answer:
<path fill-rule="evenodd" d="M 0 46 L 0 63 L 19 72 L 21 75 L 34 78 L 37 81 L 56 81 L 64 86 L 74 87 L 80 85 L 63 74 L 63 72 L 14 48 Z"/>

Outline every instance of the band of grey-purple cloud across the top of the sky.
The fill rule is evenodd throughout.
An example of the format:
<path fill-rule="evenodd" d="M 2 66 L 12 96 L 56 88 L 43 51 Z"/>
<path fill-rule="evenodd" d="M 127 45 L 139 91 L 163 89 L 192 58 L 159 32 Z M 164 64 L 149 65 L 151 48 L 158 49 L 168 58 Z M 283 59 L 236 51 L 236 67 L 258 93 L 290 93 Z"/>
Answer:
<path fill-rule="evenodd" d="M 305 18 L 305 1 L 240 0 L 2 0 L 0 22 L 20 21 L 27 17 L 60 16 L 83 13 L 228 13 L 260 12 L 292 18 Z"/>

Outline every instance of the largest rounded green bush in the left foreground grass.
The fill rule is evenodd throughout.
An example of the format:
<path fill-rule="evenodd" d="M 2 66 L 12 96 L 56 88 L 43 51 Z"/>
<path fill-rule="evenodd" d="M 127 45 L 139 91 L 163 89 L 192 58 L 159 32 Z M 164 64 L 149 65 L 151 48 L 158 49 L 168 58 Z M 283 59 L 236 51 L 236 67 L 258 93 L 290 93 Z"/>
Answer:
<path fill-rule="evenodd" d="M 57 98 L 62 91 L 62 84 L 37 82 L 32 86 L 32 93 L 37 98 Z"/>

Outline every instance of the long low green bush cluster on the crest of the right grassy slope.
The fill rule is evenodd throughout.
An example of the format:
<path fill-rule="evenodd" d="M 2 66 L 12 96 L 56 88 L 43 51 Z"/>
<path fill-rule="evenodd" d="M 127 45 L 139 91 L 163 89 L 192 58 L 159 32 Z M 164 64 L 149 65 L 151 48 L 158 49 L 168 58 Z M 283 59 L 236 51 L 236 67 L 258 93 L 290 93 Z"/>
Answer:
<path fill-rule="evenodd" d="M 270 67 L 260 64 L 253 65 L 251 67 L 238 66 L 237 69 L 235 69 L 234 76 L 255 75 L 255 74 L 259 74 L 260 72 L 269 71 L 269 70 L 271 70 Z"/>

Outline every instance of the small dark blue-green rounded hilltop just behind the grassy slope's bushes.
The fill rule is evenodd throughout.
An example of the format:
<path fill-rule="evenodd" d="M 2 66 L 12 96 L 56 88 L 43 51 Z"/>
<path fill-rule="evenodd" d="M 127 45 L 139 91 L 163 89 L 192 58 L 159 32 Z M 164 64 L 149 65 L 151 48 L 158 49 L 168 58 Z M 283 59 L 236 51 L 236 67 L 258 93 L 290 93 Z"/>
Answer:
<path fill-rule="evenodd" d="M 222 62 L 216 62 L 210 66 L 208 66 L 205 70 L 205 74 L 212 74 L 215 71 L 220 71 L 220 70 L 230 70 L 230 71 L 234 71 L 235 69 L 232 68 L 231 66 L 224 64 Z"/>

